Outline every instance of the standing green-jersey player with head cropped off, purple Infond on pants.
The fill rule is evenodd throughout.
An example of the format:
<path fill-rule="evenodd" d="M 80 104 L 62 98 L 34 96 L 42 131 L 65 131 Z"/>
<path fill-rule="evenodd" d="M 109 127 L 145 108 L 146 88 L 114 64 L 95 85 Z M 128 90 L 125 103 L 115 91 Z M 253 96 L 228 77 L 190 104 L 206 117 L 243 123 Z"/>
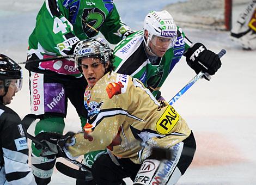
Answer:
<path fill-rule="evenodd" d="M 29 36 L 28 60 L 73 54 L 77 43 L 99 32 L 111 44 L 117 44 L 131 32 L 121 22 L 112 0 L 45 0 Z M 28 61 L 26 69 L 30 76 L 31 110 L 40 116 L 35 134 L 63 132 L 68 99 L 85 124 L 87 110 L 83 105 L 83 93 L 87 83 L 75 68 L 74 59 Z M 56 159 L 42 158 L 39 153 L 32 144 L 32 169 L 36 182 L 47 184 Z"/>

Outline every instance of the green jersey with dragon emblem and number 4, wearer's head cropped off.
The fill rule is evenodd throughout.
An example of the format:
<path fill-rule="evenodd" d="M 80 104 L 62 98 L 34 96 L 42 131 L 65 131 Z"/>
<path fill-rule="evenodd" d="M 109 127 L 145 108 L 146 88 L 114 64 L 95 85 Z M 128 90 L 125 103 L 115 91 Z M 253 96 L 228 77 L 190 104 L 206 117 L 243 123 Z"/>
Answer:
<path fill-rule="evenodd" d="M 127 30 L 130 28 L 121 22 L 112 0 L 45 0 L 36 17 L 35 28 L 29 36 L 28 59 L 73 54 L 70 51 L 76 42 L 96 36 L 99 32 L 108 42 L 117 44 Z M 62 66 L 55 64 L 57 67 L 53 64 L 41 66 L 34 63 L 27 64 L 26 68 L 74 75 L 75 70 L 71 69 L 68 61 L 66 63 L 62 63 Z M 62 69 L 65 65 L 66 70 Z M 65 72 L 67 69 L 70 73 Z"/>

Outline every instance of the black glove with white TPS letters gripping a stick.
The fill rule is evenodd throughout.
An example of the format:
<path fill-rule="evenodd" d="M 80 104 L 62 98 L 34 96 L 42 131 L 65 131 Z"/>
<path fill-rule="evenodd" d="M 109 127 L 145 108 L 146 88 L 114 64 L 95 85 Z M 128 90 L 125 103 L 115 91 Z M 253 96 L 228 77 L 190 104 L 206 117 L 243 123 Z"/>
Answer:
<path fill-rule="evenodd" d="M 198 74 L 200 71 L 208 72 L 209 75 L 214 75 L 221 67 L 221 60 L 218 55 L 201 44 L 196 43 L 188 48 L 184 54 L 187 64 Z"/>

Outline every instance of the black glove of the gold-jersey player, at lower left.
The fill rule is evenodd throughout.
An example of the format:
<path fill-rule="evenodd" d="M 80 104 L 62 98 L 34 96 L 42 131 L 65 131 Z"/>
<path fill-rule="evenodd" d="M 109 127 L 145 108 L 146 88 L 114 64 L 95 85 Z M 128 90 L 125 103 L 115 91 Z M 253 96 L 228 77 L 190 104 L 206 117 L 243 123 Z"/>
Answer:
<path fill-rule="evenodd" d="M 63 150 L 65 147 L 64 144 L 74 134 L 74 132 L 68 132 L 65 135 L 54 132 L 41 132 L 35 137 L 41 144 L 35 144 L 35 147 L 36 149 L 41 149 L 41 157 L 50 159 L 55 157 L 68 158 Z"/>

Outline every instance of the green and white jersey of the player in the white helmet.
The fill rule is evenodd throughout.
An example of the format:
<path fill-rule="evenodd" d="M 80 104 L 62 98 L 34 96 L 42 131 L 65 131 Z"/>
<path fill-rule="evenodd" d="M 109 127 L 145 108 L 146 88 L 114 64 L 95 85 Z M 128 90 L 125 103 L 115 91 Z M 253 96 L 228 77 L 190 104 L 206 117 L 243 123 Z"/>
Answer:
<path fill-rule="evenodd" d="M 140 30 L 119 42 L 115 47 L 115 72 L 138 78 L 156 96 L 170 71 L 191 44 L 182 29 L 178 27 L 175 46 L 169 48 L 153 65 L 144 48 L 143 30 Z"/>

